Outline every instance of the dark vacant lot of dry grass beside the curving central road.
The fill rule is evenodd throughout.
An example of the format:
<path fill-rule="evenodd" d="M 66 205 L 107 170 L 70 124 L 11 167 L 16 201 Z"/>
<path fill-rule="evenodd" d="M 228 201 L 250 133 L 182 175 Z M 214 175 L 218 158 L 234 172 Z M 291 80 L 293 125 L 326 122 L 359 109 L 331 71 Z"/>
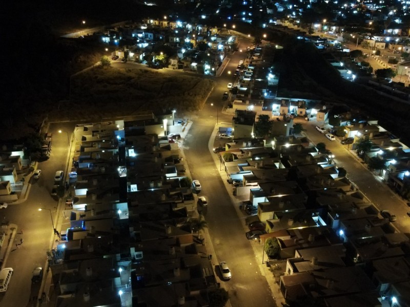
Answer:
<path fill-rule="evenodd" d="M 59 104 L 49 119 L 98 119 L 141 111 L 200 109 L 213 81 L 144 69 L 96 67 L 71 80 L 71 100 Z"/>

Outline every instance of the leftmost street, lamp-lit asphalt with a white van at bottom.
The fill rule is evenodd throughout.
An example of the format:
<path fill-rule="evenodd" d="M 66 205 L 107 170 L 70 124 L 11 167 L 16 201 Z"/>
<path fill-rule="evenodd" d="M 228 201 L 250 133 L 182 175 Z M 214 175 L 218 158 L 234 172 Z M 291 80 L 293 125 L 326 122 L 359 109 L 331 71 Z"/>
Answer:
<path fill-rule="evenodd" d="M 7 263 L 3 264 L 3 268 L 12 267 L 14 272 L 9 289 L 0 295 L 1 307 L 31 305 L 33 296 L 38 295 L 40 284 L 31 284 L 32 271 L 36 267 L 45 266 L 47 250 L 55 239 L 50 212 L 56 225 L 58 203 L 50 191 L 54 185 L 55 172 L 66 171 L 69 150 L 67 134 L 59 134 L 58 129 L 72 131 L 73 127 L 73 123 L 50 125 L 49 132 L 53 134 L 50 159 L 38 163 L 37 168 L 42 170 L 42 174 L 38 180 L 30 179 L 32 185 L 29 198 L 24 203 L 9 205 L 1 212 L 10 223 L 18 226 L 13 245 L 19 243 L 20 238 L 24 240 L 19 249 L 12 248 Z M 48 210 L 38 211 L 38 208 Z"/>

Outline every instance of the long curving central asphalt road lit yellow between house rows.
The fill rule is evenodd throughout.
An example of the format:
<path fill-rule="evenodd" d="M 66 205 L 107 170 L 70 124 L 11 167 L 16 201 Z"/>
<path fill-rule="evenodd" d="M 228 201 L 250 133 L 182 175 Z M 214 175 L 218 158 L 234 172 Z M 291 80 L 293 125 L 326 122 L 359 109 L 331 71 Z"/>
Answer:
<path fill-rule="evenodd" d="M 249 45 L 248 41 L 248 45 Z M 245 49 L 246 46 L 244 45 Z M 243 48 L 243 47 L 242 47 Z M 227 84 L 233 82 L 236 66 L 245 53 L 236 52 L 230 56 L 227 68 L 218 78 L 213 92 L 199 114 L 191 115 L 193 125 L 183 146 L 193 180 L 199 180 L 202 190 L 198 194 L 206 196 L 208 208 L 206 221 L 216 251 L 218 261 L 226 261 L 232 272 L 230 281 L 220 280 L 219 267 L 215 273 L 222 287 L 229 291 L 232 306 L 275 306 L 269 285 L 260 274 L 251 244 L 245 237 L 241 218 L 238 217 L 221 177 L 209 152 L 208 141 L 216 125 L 216 110 L 222 110 L 225 101 L 222 93 Z M 231 74 L 229 74 L 229 71 Z M 211 103 L 214 105 L 211 106 Z M 232 122 L 232 115 L 218 114 L 218 123 Z"/>

